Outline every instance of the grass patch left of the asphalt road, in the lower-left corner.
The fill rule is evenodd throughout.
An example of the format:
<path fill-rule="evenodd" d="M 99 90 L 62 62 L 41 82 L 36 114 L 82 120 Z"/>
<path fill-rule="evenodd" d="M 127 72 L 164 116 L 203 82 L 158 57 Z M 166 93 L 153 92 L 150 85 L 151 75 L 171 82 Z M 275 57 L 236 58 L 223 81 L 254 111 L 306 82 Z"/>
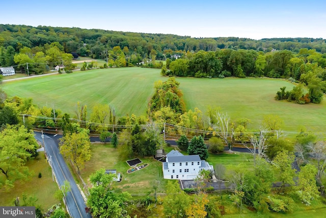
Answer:
<path fill-rule="evenodd" d="M 53 195 L 59 189 L 58 184 L 52 181 L 51 167 L 44 159 L 44 152 L 40 152 L 34 160 L 28 161 L 26 164 L 30 168 L 33 176 L 25 182 L 15 182 L 15 187 L 10 191 L 0 189 L 0 205 L 13 206 L 13 200 L 20 197 L 22 200 L 22 193 L 27 196 L 35 196 L 38 201 L 37 204 L 41 205 L 43 211 L 47 211 L 53 204 L 58 203 Z M 42 178 L 38 178 L 41 172 Z"/>

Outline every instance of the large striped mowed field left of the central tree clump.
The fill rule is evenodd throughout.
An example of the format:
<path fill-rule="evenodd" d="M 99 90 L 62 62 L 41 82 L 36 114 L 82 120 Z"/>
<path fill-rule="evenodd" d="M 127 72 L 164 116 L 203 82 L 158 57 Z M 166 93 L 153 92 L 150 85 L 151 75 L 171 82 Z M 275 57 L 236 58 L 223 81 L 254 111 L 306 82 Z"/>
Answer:
<path fill-rule="evenodd" d="M 77 102 L 87 105 L 88 114 L 100 103 L 113 106 L 118 117 L 132 113 L 146 115 L 154 82 L 168 79 L 160 77 L 159 72 L 159 69 L 140 67 L 75 71 L 5 82 L 3 89 L 8 96 L 32 98 L 41 107 L 54 104 L 71 115 L 75 114 Z"/>

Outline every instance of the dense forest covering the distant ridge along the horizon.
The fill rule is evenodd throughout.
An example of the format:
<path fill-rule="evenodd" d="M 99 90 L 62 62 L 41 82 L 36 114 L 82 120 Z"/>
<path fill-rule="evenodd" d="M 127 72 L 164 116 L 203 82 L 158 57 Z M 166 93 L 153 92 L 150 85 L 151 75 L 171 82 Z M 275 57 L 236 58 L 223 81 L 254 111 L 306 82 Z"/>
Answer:
<path fill-rule="evenodd" d="M 80 56 L 103 58 L 103 51 L 114 46 L 128 47 L 129 51 L 141 56 L 157 52 L 159 58 L 169 52 L 182 51 L 216 51 L 218 49 L 255 50 L 270 52 L 272 50 L 289 50 L 298 53 L 300 49 L 314 49 L 326 53 L 326 40 L 322 38 L 272 38 L 253 40 L 249 38 L 219 37 L 191 38 L 171 34 L 145 34 L 105 31 L 98 29 L 61 28 L 47 26 L 0 25 L 0 46 L 13 46 L 19 52 L 23 46 L 42 47 L 45 44 L 59 42 L 64 52 L 76 52 Z M 170 51 L 171 50 L 171 51 Z"/>

